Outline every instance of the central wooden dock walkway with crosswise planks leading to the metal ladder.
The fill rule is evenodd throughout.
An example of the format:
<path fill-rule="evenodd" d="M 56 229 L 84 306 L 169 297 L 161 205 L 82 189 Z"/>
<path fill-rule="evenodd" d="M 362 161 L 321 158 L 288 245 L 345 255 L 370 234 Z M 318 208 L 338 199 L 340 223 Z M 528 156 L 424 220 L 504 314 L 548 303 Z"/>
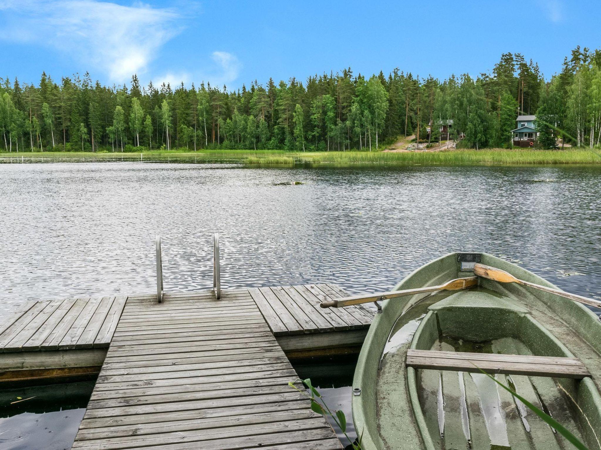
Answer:
<path fill-rule="evenodd" d="M 73 449 L 340 449 L 256 295 L 130 296 Z"/>

